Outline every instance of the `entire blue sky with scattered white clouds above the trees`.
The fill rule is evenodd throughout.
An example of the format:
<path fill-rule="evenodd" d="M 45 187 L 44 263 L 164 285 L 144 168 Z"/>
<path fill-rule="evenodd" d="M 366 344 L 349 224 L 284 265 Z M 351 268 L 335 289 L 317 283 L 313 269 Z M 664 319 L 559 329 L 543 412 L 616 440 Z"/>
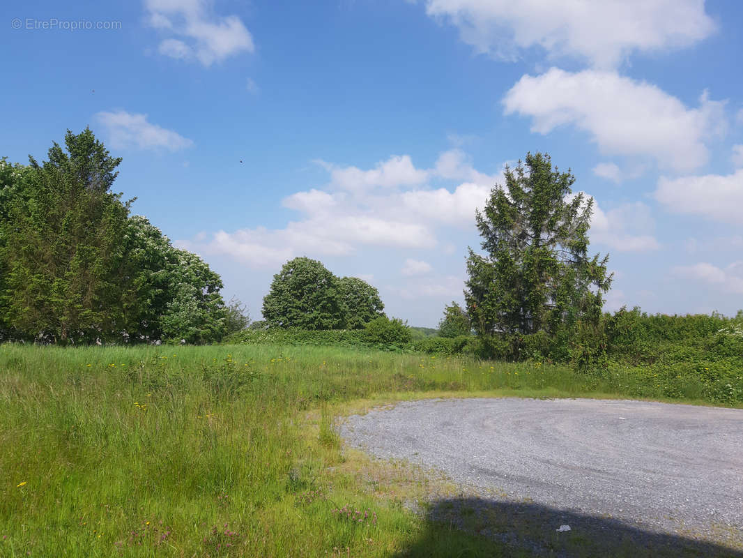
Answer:
<path fill-rule="evenodd" d="M 286 260 L 435 327 L 528 151 L 597 203 L 607 310 L 743 308 L 743 4 L 29 1 L 0 8 L 0 155 L 91 126 L 117 190 L 259 318 Z"/>

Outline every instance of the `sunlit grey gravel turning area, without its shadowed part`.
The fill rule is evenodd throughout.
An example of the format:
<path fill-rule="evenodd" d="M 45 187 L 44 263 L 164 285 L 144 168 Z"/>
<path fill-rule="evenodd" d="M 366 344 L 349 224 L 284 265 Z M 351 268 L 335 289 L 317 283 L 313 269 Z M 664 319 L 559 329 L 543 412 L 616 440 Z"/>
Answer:
<path fill-rule="evenodd" d="M 463 492 L 743 545 L 743 410 L 624 400 L 459 399 L 348 417 L 346 443 Z M 737 544 L 736 544 L 737 546 Z"/>

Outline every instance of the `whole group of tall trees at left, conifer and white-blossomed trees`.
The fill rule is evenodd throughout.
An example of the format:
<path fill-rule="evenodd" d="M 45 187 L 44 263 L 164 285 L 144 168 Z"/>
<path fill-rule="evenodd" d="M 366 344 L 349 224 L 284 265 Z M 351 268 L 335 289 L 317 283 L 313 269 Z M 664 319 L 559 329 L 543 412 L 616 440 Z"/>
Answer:
<path fill-rule="evenodd" d="M 111 190 L 121 158 L 90 129 L 48 160 L 0 160 L 0 340 L 210 343 L 247 325 L 204 260 Z"/>

